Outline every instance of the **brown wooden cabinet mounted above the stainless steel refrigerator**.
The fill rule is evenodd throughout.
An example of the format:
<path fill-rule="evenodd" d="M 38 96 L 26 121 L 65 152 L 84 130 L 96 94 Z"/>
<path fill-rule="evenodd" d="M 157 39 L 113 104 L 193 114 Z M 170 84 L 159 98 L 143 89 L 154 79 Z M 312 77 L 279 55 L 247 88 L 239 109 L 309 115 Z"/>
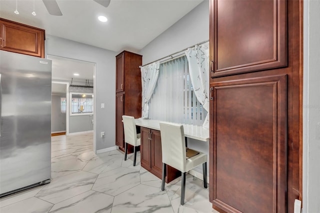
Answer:
<path fill-rule="evenodd" d="M 44 57 L 44 30 L 0 18 L 0 49 Z"/>

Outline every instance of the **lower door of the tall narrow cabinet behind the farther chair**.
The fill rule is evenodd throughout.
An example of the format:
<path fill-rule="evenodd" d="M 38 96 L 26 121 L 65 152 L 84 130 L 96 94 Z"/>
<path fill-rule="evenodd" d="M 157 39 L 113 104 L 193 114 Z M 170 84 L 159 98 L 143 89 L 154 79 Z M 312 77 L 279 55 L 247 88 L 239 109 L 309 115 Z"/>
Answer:
<path fill-rule="evenodd" d="M 124 93 L 115 95 L 115 145 L 124 148 L 122 115 L 124 109 Z"/>

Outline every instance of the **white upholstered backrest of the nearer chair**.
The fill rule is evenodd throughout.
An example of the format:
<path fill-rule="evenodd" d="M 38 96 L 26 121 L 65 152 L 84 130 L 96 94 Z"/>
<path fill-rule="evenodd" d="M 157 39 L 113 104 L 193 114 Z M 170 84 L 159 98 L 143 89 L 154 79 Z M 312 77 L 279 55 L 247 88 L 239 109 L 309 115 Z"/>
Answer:
<path fill-rule="evenodd" d="M 183 125 L 160 122 L 162 162 L 185 172 Z"/>

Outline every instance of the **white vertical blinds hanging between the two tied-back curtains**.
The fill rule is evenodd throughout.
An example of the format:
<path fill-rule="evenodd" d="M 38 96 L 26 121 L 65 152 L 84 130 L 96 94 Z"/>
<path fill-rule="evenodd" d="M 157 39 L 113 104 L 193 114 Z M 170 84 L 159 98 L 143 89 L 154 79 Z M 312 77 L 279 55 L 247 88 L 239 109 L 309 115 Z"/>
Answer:
<path fill-rule="evenodd" d="M 149 100 L 149 118 L 202 125 L 206 111 L 192 89 L 185 56 L 161 63 L 154 92 Z"/>

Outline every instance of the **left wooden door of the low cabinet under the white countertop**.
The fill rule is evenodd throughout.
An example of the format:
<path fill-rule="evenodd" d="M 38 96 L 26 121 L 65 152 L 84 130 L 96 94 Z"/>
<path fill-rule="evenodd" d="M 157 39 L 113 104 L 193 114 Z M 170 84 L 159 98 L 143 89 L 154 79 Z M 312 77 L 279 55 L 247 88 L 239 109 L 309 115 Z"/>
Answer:
<path fill-rule="evenodd" d="M 141 127 L 141 143 L 140 143 L 140 156 L 141 166 L 146 170 L 151 169 L 151 143 L 150 143 L 150 129 Z"/>

